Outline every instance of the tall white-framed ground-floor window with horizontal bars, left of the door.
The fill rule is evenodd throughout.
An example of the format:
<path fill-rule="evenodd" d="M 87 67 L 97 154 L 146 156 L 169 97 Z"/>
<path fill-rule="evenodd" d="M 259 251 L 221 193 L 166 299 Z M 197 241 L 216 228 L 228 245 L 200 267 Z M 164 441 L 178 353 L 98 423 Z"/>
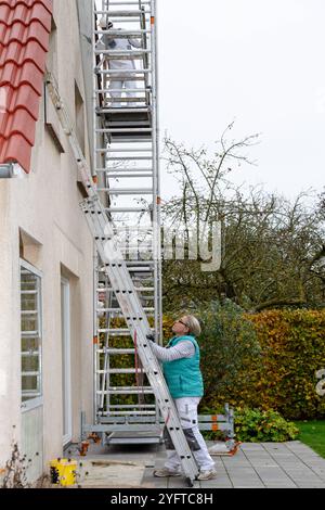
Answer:
<path fill-rule="evenodd" d="M 42 398 L 41 275 L 21 260 L 22 407 Z"/>

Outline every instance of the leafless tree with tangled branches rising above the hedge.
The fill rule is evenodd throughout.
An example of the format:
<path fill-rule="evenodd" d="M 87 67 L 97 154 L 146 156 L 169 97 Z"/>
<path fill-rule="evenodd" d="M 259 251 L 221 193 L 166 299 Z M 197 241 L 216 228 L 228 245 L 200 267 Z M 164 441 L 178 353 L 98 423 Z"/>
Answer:
<path fill-rule="evenodd" d="M 200 271 L 197 260 L 164 262 L 166 309 L 229 297 L 249 310 L 275 306 L 324 306 L 324 194 L 307 205 L 312 193 L 291 203 L 259 188 L 245 192 L 231 181 L 232 165 L 253 164 L 242 154 L 258 135 L 226 141 L 226 130 L 209 157 L 207 150 L 187 150 L 167 139 L 168 168 L 179 180 L 179 195 L 164 206 L 164 221 L 173 228 L 196 228 L 219 220 L 222 257 L 218 271 Z M 185 242 L 185 256 L 188 240 Z"/>

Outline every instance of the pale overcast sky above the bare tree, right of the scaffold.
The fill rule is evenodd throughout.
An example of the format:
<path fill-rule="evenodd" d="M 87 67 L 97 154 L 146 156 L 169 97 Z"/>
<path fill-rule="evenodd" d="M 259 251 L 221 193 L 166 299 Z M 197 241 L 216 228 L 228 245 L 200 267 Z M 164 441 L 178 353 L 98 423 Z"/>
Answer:
<path fill-rule="evenodd" d="M 161 133 L 213 149 L 235 119 L 234 138 L 261 132 L 237 182 L 321 190 L 324 20 L 324 0 L 158 0 Z M 174 182 L 161 182 L 166 200 Z"/>

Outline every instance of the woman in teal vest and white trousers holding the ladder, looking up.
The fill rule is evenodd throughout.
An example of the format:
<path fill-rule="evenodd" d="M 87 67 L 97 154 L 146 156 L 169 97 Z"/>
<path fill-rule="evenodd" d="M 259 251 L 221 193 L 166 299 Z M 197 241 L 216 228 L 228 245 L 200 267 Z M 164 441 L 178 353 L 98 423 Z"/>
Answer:
<path fill-rule="evenodd" d="M 157 359 L 162 361 L 164 375 L 177 406 L 187 443 L 199 467 L 198 480 L 211 480 L 217 475 L 214 462 L 198 430 L 197 406 L 204 395 L 199 369 L 199 346 L 195 339 L 200 334 L 198 320 L 187 315 L 172 326 L 174 336 L 167 347 L 152 344 Z M 164 430 L 167 448 L 165 468 L 154 471 L 155 476 L 180 476 L 181 461 L 172 445 L 167 428 Z"/>

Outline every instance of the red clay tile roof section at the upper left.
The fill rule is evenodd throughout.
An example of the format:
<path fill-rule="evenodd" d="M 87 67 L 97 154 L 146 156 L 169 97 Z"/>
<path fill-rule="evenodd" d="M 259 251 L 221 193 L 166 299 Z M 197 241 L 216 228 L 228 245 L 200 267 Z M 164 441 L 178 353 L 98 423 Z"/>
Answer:
<path fill-rule="evenodd" d="M 30 171 L 53 0 L 0 0 L 0 164 Z"/>

